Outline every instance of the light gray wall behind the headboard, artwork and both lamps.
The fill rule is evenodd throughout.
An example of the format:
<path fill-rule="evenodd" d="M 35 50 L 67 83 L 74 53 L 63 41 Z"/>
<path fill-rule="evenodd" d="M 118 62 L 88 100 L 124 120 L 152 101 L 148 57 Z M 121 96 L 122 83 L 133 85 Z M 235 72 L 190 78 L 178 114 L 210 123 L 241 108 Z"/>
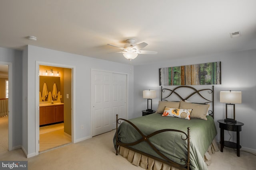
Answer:
<path fill-rule="evenodd" d="M 220 91 L 242 91 L 242 104 L 236 104 L 236 119 L 244 123 L 240 132 L 240 144 L 243 149 L 256 152 L 256 50 L 241 51 L 237 53 L 222 53 L 192 59 L 176 59 L 154 64 L 134 66 L 134 113 L 137 117 L 142 115 L 142 110 L 147 108 L 147 100 L 142 98 L 143 90 L 157 90 L 157 98 L 153 99 L 153 109 L 157 109 L 160 100 L 158 69 L 171 66 L 200 64 L 221 61 L 222 84 L 215 87 L 215 124 L 218 131 L 217 141 L 220 140 L 218 119 L 225 118 L 225 104 L 220 103 Z M 195 88 L 211 87 L 194 86 Z M 168 86 L 172 88 L 172 86 Z M 236 141 L 236 134 L 231 141 Z M 229 135 L 225 132 L 225 140 Z M 249 140 L 250 139 L 250 140 Z"/>

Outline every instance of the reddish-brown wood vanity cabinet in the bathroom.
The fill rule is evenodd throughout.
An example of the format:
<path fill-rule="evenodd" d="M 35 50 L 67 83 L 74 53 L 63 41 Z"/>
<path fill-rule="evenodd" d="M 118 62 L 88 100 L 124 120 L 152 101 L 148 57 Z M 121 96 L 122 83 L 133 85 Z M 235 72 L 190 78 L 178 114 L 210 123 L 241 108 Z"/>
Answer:
<path fill-rule="evenodd" d="M 64 121 L 64 105 L 40 106 L 40 125 Z"/>

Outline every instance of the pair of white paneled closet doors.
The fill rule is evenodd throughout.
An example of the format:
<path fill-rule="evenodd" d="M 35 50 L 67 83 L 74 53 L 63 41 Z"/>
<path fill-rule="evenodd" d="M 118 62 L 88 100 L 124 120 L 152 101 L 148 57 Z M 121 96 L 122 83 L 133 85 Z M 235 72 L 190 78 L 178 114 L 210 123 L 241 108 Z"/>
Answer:
<path fill-rule="evenodd" d="M 126 74 L 92 70 L 92 136 L 114 129 L 116 114 L 126 118 L 126 77 Z"/>

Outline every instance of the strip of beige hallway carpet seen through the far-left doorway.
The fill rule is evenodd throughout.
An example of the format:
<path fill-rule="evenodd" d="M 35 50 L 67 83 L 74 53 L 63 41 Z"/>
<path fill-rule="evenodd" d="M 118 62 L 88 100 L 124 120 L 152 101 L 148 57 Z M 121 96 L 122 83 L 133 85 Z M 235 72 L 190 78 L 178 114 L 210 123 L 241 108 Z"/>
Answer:
<path fill-rule="evenodd" d="M 0 118 L 0 153 L 8 152 L 8 116 Z"/>

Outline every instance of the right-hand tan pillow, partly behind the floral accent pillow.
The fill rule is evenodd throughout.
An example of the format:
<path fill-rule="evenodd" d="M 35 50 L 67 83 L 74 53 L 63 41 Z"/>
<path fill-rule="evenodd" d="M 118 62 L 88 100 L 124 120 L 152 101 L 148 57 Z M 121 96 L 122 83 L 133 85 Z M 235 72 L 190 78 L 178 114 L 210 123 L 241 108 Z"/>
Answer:
<path fill-rule="evenodd" d="M 192 112 L 190 114 L 191 118 L 207 120 L 206 113 L 208 111 L 209 106 L 209 104 L 195 104 L 180 101 L 180 109 L 192 109 Z"/>

